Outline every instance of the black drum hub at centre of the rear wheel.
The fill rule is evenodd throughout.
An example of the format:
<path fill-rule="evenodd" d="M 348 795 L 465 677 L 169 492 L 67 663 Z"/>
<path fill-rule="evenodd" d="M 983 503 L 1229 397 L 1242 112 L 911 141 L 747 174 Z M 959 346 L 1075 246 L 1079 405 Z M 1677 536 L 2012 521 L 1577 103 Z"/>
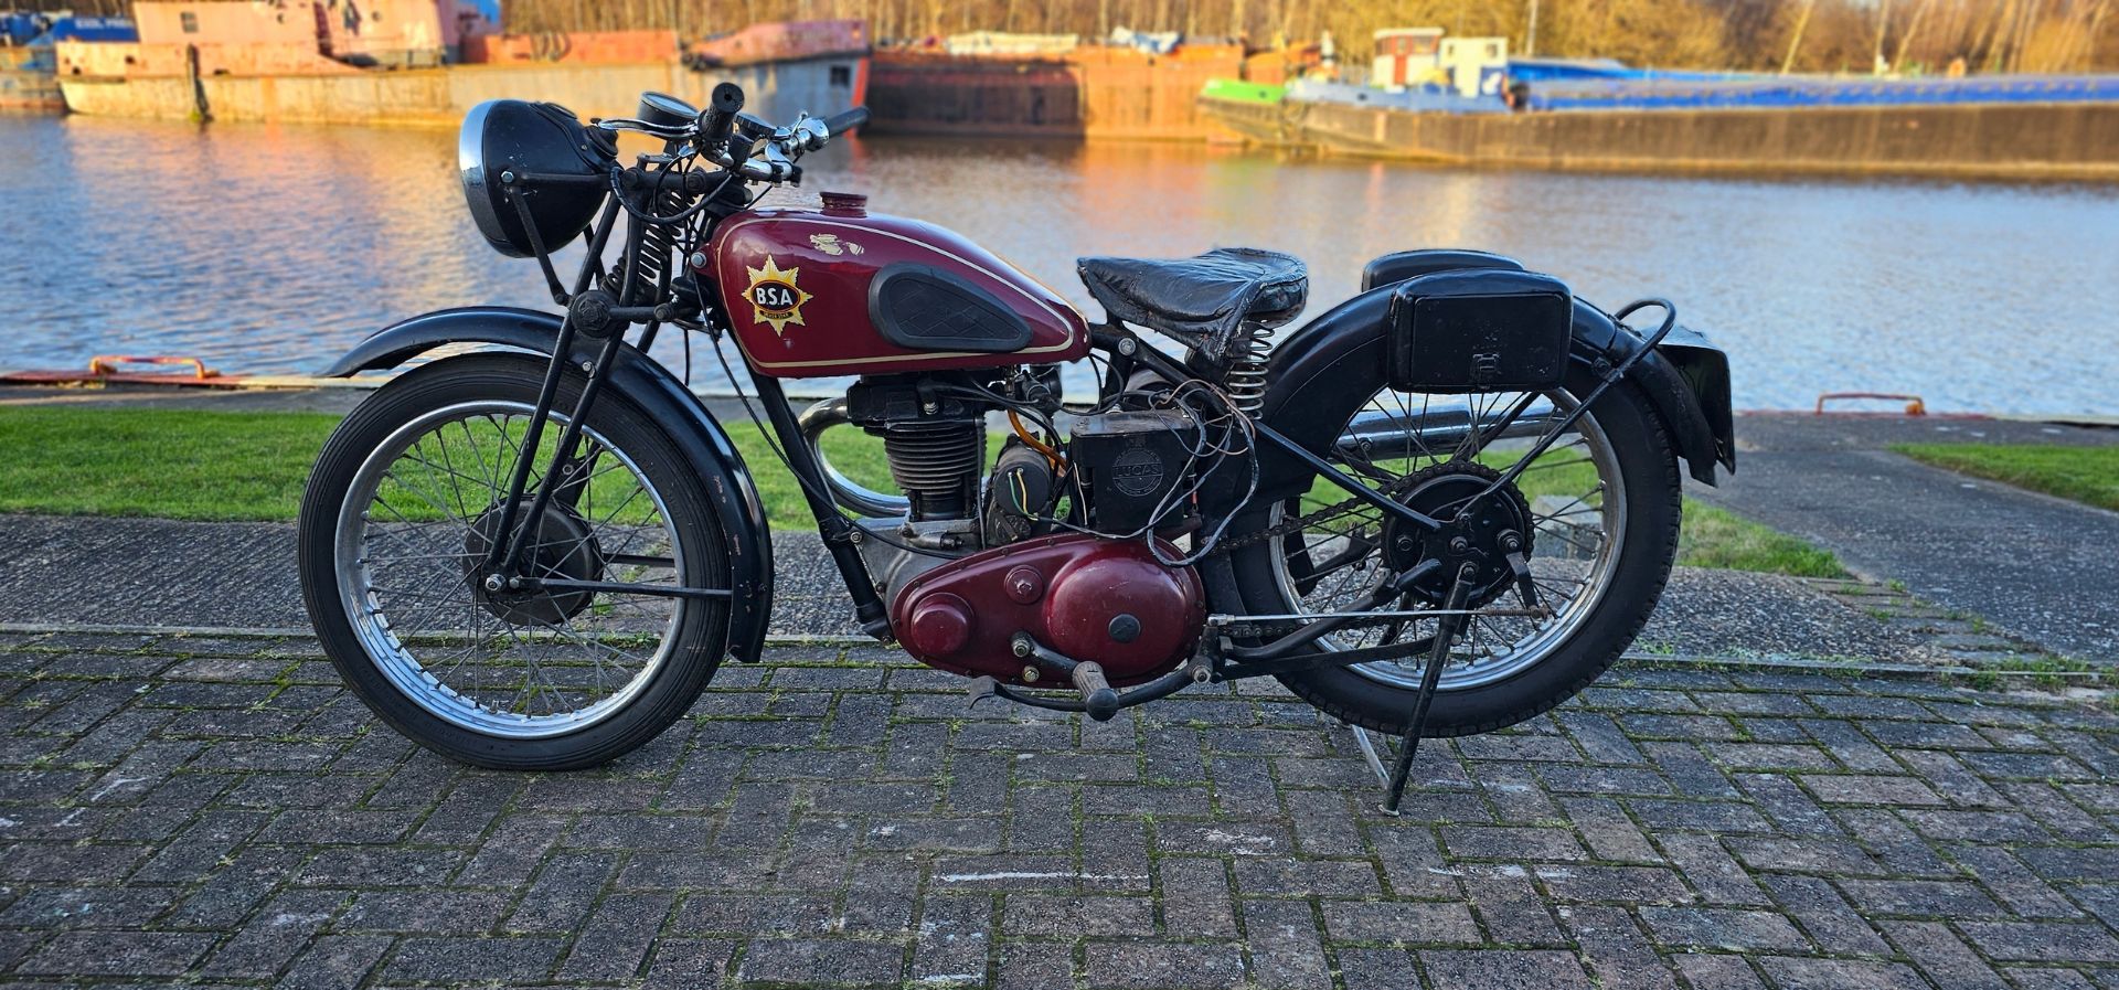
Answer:
<path fill-rule="evenodd" d="M 1500 477 L 1500 471 L 1475 460 L 1447 460 L 1405 477 L 1401 502 L 1443 521 L 1443 528 L 1435 532 L 1399 517 L 1384 521 L 1384 564 L 1390 570 L 1409 570 L 1424 560 L 1443 562 L 1441 568 L 1413 583 L 1409 591 L 1415 600 L 1424 604 L 1449 600 L 1449 585 L 1456 583 L 1464 564 L 1475 568 L 1466 608 L 1479 608 L 1515 585 L 1509 553 L 1530 558 L 1534 538 L 1530 500 L 1515 483 L 1507 483 L 1468 509 L 1464 507 Z"/>

